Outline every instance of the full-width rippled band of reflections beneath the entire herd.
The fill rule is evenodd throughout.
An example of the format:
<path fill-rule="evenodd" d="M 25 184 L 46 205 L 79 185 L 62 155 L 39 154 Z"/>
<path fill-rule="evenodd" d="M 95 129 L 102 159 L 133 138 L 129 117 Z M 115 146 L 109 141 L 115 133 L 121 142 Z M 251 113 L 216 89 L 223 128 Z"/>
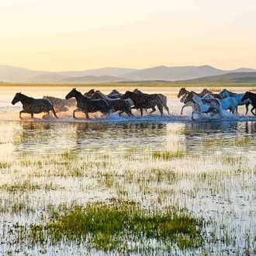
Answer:
<path fill-rule="evenodd" d="M 12 144 L 16 151 L 32 150 L 35 154 L 76 150 L 80 154 L 136 148 L 137 152 L 150 150 L 175 150 L 185 147 L 193 153 L 207 147 L 209 141 L 234 140 L 249 136 L 255 142 L 254 122 L 215 123 L 17 123 Z M 19 128 L 19 129 L 18 129 Z M 248 145 L 247 145 L 248 146 Z M 218 144 L 218 150 L 224 147 Z"/>

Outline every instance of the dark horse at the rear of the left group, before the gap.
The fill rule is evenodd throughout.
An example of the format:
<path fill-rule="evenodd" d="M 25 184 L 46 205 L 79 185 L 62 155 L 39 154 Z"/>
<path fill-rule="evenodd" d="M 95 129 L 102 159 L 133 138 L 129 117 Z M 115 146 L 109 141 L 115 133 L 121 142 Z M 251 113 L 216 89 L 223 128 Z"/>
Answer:
<path fill-rule="evenodd" d="M 126 93 L 121 96 L 120 99 L 128 98 L 132 99 L 132 101 L 134 102 L 135 109 L 140 109 L 140 116 L 143 116 L 143 109 L 154 109 L 154 106 L 157 106 L 157 108 L 161 112 L 161 116 L 163 116 L 163 105 L 159 95 L 140 95 L 135 92 L 126 91 Z"/>

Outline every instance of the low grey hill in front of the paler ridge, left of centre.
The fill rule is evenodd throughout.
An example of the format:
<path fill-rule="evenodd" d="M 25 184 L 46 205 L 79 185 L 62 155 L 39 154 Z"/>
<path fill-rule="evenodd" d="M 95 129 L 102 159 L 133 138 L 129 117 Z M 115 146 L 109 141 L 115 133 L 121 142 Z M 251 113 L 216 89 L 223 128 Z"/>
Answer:
<path fill-rule="evenodd" d="M 130 81 L 126 78 L 112 77 L 109 75 L 102 75 L 96 77 L 94 75 L 86 75 L 78 78 L 66 78 L 61 83 L 63 84 L 98 84 L 98 83 L 110 83 L 116 81 Z"/>

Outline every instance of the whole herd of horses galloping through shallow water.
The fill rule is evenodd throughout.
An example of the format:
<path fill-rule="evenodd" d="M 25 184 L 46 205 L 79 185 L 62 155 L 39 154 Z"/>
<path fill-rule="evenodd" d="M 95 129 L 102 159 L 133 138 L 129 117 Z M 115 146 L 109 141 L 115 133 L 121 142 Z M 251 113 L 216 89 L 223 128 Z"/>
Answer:
<path fill-rule="evenodd" d="M 256 116 L 256 110 L 254 110 L 256 109 L 256 94 L 253 92 L 234 93 L 225 88 L 216 94 L 204 88 L 202 92 L 196 93 L 194 91 L 189 92 L 186 88 L 181 88 L 177 96 L 178 98 L 182 97 L 180 101 L 184 103 L 182 112 L 185 107 L 192 107 L 192 119 L 194 119 L 195 113 L 222 116 L 222 110 L 229 110 L 235 114 L 237 113 L 237 107 L 243 105 L 246 106 L 246 115 L 248 107 L 251 105 L 251 112 Z M 71 92 L 67 93 L 65 99 L 52 96 L 34 99 L 17 92 L 14 99 L 12 99 L 12 105 L 16 104 L 16 102 L 22 103 L 22 111 L 19 112 L 20 119 L 22 119 L 22 113 L 29 113 L 33 118 L 34 114 L 41 112 L 46 112 L 47 115 L 50 115 L 50 111 L 58 118 L 56 112 L 67 111 L 75 105 L 77 108 L 73 111 L 74 119 L 77 119 L 75 112 L 84 112 L 86 118 L 89 118 L 88 114 L 91 112 L 102 112 L 106 116 L 112 112 L 119 112 L 119 115 L 125 112 L 127 116 L 133 116 L 132 109 L 139 109 L 140 116 L 143 116 L 144 109 L 152 109 L 150 113 L 158 109 L 161 116 L 163 116 L 163 110 L 165 109 L 170 115 L 165 95 L 147 94 L 138 89 L 133 92 L 126 91 L 124 94 L 117 90 L 112 90 L 109 95 L 104 95 L 102 92 L 92 89 L 83 95 L 76 88 L 73 88 Z"/>

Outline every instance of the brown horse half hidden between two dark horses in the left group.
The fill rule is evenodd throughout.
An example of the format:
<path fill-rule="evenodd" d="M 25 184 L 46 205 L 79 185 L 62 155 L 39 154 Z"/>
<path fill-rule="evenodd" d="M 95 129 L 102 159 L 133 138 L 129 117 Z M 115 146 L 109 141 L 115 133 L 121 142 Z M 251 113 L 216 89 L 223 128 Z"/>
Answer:
<path fill-rule="evenodd" d="M 109 103 L 110 110 L 113 112 L 120 111 L 119 116 L 123 112 L 126 112 L 128 116 L 133 116 L 133 113 L 130 109 L 130 104 L 129 102 L 126 102 L 125 99 L 109 99 L 106 95 L 99 91 L 95 91 L 90 99 L 105 99 Z"/>

